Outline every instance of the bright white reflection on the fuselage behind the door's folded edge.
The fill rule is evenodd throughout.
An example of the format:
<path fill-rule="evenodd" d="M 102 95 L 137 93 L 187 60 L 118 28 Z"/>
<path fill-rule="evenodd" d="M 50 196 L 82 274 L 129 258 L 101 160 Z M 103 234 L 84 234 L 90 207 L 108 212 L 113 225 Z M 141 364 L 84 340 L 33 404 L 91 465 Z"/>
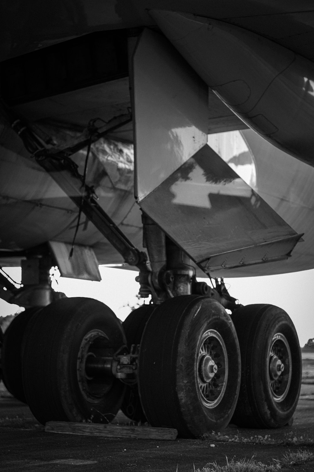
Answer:
<path fill-rule="evenodd" d="M 250 187 L 256 187 L 254 157 L 239 131 L 208 136 L 207 143 Z"/>

